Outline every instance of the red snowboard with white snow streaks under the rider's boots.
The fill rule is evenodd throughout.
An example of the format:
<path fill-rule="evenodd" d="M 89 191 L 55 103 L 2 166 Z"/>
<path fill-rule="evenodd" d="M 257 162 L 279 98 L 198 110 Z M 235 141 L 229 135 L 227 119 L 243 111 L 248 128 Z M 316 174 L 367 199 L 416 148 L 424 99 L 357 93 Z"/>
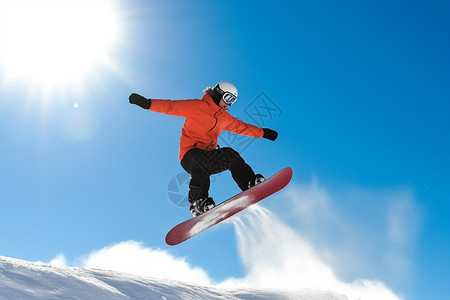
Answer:
<path fill-rule="evenodd" d="M 262 199 L 283 189 L 292 179 L 292 168 L 284 168 L 260 184 L 231 197 L 213 209 L 173 227 L 166 235 L 167 245 L 178 245 L 228 219 Z"/>

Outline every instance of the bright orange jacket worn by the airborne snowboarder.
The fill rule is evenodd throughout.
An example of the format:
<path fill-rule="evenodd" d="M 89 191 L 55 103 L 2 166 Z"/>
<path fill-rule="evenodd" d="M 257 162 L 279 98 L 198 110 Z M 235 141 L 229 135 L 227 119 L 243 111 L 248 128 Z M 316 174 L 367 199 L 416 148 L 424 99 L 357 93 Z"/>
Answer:
<path fill-rule="evenodd" d="M 262 128 L 244 123 L 230 115 L 226 108 L 215 104 L 208 94 L 203 95 L 201 100 L 152 99 L 149 110 L 186 118 L 180 137 L 180 161 L 192 148 L 206 151 L 215 149 L 222 130 L 255 138 L 263 137 L 264 134 Z"/>

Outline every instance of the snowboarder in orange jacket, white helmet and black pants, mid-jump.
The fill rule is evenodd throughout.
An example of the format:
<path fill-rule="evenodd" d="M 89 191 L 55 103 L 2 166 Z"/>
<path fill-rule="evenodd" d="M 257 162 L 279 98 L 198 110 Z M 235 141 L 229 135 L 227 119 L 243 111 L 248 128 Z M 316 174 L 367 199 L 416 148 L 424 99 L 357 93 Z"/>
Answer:
<path fill-rule="evenodd" d="M 186 118 L 181 130 L 179 159 L 183 169 L 191 175 L 188 200 L 194 217 L 215 206 L 209 196 L 212 174 L 230 170 L 242 191 L 265 180 L 261 174 L 255 174 L 237 151 L 218 146 L 217 139 L 222 130 L 272 141 L 278 137 L 272 129 L 244 123 L 228 113 L 228 107 L 237 100 L 238 95 L 232 83 L 221 81 L 203 92 L 202 99 L 191 100 L 147 99 L 135 93 L 129 96 L 131 104 Z"/>

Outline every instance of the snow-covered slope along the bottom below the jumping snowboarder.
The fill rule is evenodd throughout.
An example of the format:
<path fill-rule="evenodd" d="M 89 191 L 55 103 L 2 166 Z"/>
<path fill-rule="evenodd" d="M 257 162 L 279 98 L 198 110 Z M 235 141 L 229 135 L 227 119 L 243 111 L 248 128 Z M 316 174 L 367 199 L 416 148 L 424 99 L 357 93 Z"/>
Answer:
<path fill-rule="evenodd" d="M 225 290 L 113 271 L 57 267 L 0 256 L 0 299 L 347 299 L 331 292 Z"/>

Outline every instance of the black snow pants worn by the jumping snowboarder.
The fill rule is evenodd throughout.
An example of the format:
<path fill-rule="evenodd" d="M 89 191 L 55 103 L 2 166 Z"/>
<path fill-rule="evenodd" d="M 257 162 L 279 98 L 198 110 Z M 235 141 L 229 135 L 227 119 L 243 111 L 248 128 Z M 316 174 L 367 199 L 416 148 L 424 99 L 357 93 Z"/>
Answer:
<path fill-rule="evenodd" d="M 210 176 L 226 170 L 242 191 L 248 189 L 250 180 L 255 179 L 252 168 L 241 155 L 230 147 L 205 151 L 193 148 L 186 152 L 181 160 L 181 166 L 191 174 L 189 182 L 189 201 L 209 196 Z"/>

